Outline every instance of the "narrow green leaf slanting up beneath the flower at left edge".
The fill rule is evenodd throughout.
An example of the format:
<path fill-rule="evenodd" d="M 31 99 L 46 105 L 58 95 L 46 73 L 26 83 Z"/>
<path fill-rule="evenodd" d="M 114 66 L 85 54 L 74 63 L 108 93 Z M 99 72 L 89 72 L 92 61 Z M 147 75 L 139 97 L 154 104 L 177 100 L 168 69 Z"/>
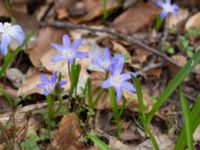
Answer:
<path fill-rule="evenodd" d="M 18 46 L 14 52 L 12 54 L 8 54 L 5 56 L 4 58 L 4 63 L 0 69 L 0 77 L 2 77 L 4 75 L 4 73 L 6 72 L 6 70 L 8 69 L 9 65 L 11 64 L 11 62 L 14 60 L 14 58 L 17 56 L 17 54 L 20 52 L 20 50 L 24 47 L 24 45 L 26 45 L 26 43 L 31 39 L 31 37 L 34 35 L 34 32 L 29 33 L 24 42 Z"/>

